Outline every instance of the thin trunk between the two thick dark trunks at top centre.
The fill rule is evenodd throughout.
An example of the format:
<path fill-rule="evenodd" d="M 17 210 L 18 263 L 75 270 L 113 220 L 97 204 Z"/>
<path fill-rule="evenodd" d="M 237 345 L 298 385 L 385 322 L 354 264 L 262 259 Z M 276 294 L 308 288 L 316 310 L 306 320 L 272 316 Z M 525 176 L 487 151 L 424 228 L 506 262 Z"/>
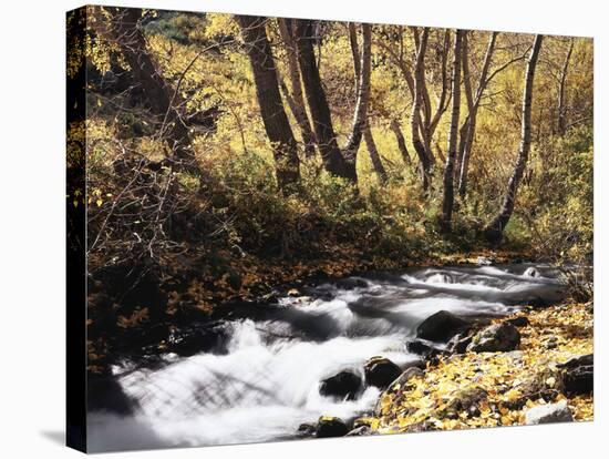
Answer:
<path fill-rule="evenodd" d="M 316 153 L 314 135 L 311 130 L 309 116 L 307 116 L 307 110 L 304 110 L 302 84 L 300 82 L 300 73 L 298 71 L 298 55 L 290 21 L 290 19 L 278 19 L 279 33 L 281 34 L 281 40 L 283 40 L 286 54 L 288 57 L 288 76 L 291 86 L 291 102 L 288 103 L 290 104 L 290 110 L 300 129 L 302 143 L 304 144 L 304 154 L 310 157 Z M 288 94 L 287 89 L 283 92 Z"/>

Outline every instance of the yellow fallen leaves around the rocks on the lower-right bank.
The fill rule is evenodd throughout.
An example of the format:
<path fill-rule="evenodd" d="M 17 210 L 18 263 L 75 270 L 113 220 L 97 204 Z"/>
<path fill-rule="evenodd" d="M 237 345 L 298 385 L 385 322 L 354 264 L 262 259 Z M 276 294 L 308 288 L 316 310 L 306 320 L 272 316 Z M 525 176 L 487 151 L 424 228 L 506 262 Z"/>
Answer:
<path fill-rule="evenodd" d="M 591 318 L 584 304 L 535 310 L 528 318 L 531 325 L 522 328 L 522 355 L 468 353 L 443 358 L 423 376 L 411 379 L 404 387 L 393 388 L 381 399 L 379 431 L 409 431 L 422 422 L 431 429 L 524 424 L 526 409 L 546 404 L 544 399 L 523 400 L 524 381 L 544 369 L 555 371 L 556 364 L 592 351 L 591 329 L 577 336 L 572 336 L 571 330 Z M 550 337 L 558 346 L 547 349 L 545 343 Z M 547 388 L 558 387 L 551 373 L 543 381 Z M 468 406 L 454 411 L 451 404 L 456 397 L 463 397 L 466 389 L 483 389 L 487 397 L 478 401 L 473 411 Z M 561 399 L 565 396 L 558 394 L 555 401 Z M 569 406 L 576 420 L 592 419 L 591 397 L 569 399 Z"/>

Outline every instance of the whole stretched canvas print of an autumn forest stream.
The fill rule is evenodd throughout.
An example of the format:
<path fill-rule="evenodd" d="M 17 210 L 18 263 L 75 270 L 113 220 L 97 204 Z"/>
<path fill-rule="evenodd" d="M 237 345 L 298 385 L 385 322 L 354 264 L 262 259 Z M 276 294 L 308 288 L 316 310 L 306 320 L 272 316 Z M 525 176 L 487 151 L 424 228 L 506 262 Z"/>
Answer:
<path fill-rule="evenodd" d="M 66 49 L 68 446 L 592 420 L 591 38 L 89 6 Z"/>

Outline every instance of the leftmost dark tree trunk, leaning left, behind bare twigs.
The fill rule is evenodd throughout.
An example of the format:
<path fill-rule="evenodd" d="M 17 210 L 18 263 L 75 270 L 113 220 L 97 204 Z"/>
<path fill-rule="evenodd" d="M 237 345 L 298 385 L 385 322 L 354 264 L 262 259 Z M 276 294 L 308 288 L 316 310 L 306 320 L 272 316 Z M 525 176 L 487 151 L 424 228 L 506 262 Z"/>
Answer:
<path fill-rule="evenodd" d="M 110 34 L 121 49 L 135 80 L 140 83 L 146 105 L 161 124 L 161 137 L 174 152 L 180 169 L 196 171 L 196 160 L 190 146 L 188 128 L 179 114 L 179 94 L 167 83 L 146 47 L 146 39 L 138 27 L 142 10 L 136 8 L 107 8 L 112 16 Z"/>

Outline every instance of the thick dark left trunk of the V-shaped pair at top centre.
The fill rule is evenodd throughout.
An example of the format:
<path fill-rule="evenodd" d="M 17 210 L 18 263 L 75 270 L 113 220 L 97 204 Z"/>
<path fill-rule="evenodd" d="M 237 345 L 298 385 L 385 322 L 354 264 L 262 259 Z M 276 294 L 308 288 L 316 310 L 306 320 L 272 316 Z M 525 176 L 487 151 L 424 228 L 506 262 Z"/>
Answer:
<path fill-rule="evenodd" d="M 295 20 L 296 45 L 298 63 L 302 76 L 302 85 L 309 112 L 313 122 L 313 130 L 326 170 L 337 176 L 355 183 L 355 164 L 345 161 L 337 142 L 332 116 L 326 92 L 321 85 L 321 78 L 313 52 L 313 30 L 309 20 Z"/>

